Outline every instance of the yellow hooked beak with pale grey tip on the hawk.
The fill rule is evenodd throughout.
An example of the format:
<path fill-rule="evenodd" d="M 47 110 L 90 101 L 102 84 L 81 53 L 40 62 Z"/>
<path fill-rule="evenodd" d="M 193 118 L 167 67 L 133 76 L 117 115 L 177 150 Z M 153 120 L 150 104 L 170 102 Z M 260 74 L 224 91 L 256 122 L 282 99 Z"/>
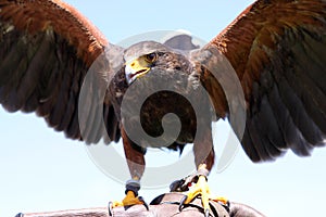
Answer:
<path fill-rule="evenodd" d="M 125 74 L 128 85 L 134 82 L 137 78 L 146 75 L 151 69 L 149 63 L 142 58 L 135 59 L 125 66 Z"/>

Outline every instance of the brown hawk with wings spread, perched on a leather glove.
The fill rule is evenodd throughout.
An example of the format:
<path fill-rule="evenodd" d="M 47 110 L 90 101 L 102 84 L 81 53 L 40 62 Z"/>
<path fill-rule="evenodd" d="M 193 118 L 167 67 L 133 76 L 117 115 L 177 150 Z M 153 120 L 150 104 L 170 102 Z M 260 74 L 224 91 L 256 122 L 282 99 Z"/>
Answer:
<path fill-rule="evenodd" d="M 135 54 L 149 44 L 147 53 Z M 126 130 L 133 126 L 133 119 L 122 118 L 125 93 L 133 87 L 154 87 L 150 84 L 153 77 L 187 78 L 185 91 L 195 95 L 200 84 L 209 93 L 217 118 L 208 115 L 203 120 L 197 119 L 189 103 L 171 91 L 152 94 L 145 102 L 140 118 L 145 131 L 159 137 L 165 114 L 180 117 L 179 135 L 167 148 L 177 150 L 193 143 L 198 168 L 196 189 L 184 203 L 200 194 L 209 210 L 206 177 L 214 164 L 212 130 L 210 125 L 203 125 L 198 138 L 196 127 L 198 122 L 206 123 L 206 118 L 230 118 L 223 84 L 191 55 L 167 44 L 145 41 L 115 51 L 122 64 L 110 62 L 108 71 L 95 74 L 98 87 L 106 87 L 101 92 L 101 104 L 86 98 L 86 106 L 79 111 L 82 94 L 96 95 L 93 87 L 86 88 L 86 92 L 82 87 L 93 63 L 110 56 L 112 49 L 108 51 L 108 47 L 105 37 L 61 0 L 0 0 L 0 103 L 9 112 L 35 112 L 70 139 L 87 143 L 102 138 L 108 143 L 122 139 L 131 179 L 126 183 L 126 197 L 115 205 L 131 205 L 143 203 L 138 191 L 146 146 L 133 141 Z M 275 159 L 289 149 L 308 156 L 314 148 L 325 145 L 325 0 L 258 0 L 205 48 L 214 48 L 226 56 L 240 81 L 247 114 L 241 144 L 253 162 Z M 141 93 L 141 89 L 134 92 Z M 102 113 L 96 113 L 95 107 L 101 107 Z M 99 116 L 105 130 L 95 122 Z M 203 156 L 202 150 L 209 150 L 208 154 Z"/>

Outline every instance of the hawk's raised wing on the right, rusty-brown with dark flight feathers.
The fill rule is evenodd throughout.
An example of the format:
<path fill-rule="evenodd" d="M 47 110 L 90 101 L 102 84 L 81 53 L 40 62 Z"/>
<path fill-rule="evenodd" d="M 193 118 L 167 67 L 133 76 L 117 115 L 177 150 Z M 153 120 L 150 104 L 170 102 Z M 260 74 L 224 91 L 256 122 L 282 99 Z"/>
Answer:
<path fill-rule="evenodd" d="M 259 0 L 210 46 L 229 60 L 243 88 L 242 146 L 253 162 L 325 145 L 325 0 Z M 226 107 L 221 90 L 208 89 L 215 106 Z"/>

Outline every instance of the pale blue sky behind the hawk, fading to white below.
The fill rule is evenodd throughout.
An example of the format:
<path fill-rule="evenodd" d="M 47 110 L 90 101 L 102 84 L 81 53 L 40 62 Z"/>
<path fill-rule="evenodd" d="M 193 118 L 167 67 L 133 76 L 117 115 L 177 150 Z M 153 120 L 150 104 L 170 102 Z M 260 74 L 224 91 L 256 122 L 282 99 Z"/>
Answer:
<path fill-rule="evenodd" d="M 210 40 L 252 0 L 67 2 L 114 43 L 160 29 L 187 29 Z M 124 184 L 102 174 L 83 143 L 65 139 L 35 114 L 10 114 L 1 107 L 0 133 L 1 217 L 20 212 L 106 206 L 110 200 L 123 199 Z M 227 130 L 220 135 L 227 135 Z M 225 171 L 212 171 L 210 183 L 214 193 L 248 204 L 266 216 L 323 216 L 325 165 L 326 149 L 317 149 L 305 158 L 289 152 L 265 164 L 251 163 L 240 150 Z M 140 194 L 150 202 L 165 191 L 141 190 Z"/>

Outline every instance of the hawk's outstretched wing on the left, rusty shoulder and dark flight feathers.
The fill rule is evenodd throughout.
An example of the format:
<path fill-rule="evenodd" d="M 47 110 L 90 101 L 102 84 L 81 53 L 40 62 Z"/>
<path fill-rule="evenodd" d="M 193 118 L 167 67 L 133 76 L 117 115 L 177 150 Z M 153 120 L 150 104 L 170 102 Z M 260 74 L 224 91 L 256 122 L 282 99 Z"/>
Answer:
<path fill-rule="evenodd" d="M 91 119 L 80 136 L 78 97 L 105 46 L 101 33 L 60 0 L 0 0 L 0 103 L 10 112 L 36 112 L 68 138 L 99 141 L 103 135 L 91 132 Z M 118 140 L 110 100 L 100 106 L 110 138 Z M 92 106 L 84 108 L 90 118 L 92 113 Z"/>

